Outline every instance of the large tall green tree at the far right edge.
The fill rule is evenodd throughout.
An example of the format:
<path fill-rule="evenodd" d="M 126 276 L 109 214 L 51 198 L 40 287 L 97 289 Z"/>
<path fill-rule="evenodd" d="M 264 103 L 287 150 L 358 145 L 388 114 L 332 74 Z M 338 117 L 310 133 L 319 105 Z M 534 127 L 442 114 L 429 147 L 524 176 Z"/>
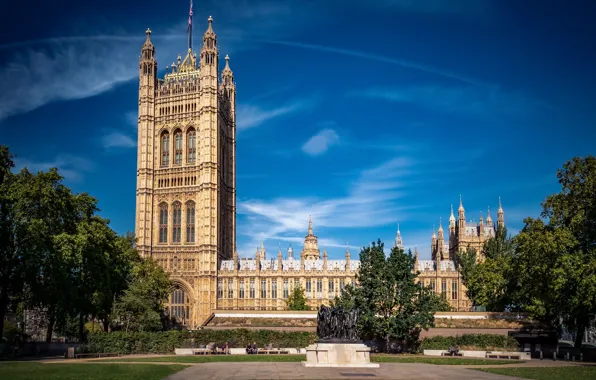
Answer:
<path fill-rule="evenodd" d="M 557 172 L 561 191 L 527 218 L 516 237 L 517 300 L 536 317 L 575 331 L 575 347 L 596 314 L 596 157 Z"/>

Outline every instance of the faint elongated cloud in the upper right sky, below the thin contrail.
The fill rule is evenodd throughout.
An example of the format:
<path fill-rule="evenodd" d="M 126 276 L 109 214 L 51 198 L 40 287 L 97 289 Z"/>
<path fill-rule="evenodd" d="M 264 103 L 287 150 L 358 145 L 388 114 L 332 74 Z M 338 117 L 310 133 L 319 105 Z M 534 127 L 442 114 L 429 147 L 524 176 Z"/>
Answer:
<path fill-rule="evenodd" d="M 416 104 L 432 110 L 471 116 L 519 118 L 546 108 L 543 103 L 519 92 L 505 92 L 497 88 L 487 90 L 476 86 L 397 86 L 369 88 L 348 95 Z"/>

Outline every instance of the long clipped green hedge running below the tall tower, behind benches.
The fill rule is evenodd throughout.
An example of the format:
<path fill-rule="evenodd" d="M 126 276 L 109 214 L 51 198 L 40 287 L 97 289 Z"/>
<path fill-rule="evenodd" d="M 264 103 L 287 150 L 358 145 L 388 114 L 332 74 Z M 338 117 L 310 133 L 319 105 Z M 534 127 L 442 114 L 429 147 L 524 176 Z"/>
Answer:
<path fill-rule="evenodd" d="M 314 332 L 273 330 L 171 330 L 164 332 L 94 332 L 87 336 L 81 352 L 128 354 L 168 354 L 174 348 L 198 347 L 200 344 L 224 344 L 246 347 L 256 342 L 258 347 L 272 343 L 274 347 L 306 347 L 316 339 Z"/>

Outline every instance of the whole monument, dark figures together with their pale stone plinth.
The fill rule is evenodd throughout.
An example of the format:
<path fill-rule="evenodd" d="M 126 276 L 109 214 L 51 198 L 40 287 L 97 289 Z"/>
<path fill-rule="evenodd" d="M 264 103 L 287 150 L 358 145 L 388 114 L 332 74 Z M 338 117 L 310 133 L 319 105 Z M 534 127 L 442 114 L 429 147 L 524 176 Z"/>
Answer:
<path fill-rule="evenodd" d="M 370 347 L 359 340 L 358 310 L 321 306 L 317 315 L 319 340 L 306 347 L 305 367 L 378 368 L 370 362 Z"/>

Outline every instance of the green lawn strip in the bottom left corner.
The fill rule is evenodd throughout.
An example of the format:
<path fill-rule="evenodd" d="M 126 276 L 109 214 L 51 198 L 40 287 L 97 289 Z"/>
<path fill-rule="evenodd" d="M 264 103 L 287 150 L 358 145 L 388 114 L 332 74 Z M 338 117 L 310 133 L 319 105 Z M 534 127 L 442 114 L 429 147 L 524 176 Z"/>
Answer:
<path fill-rule="evenodd" d="M 151 364 L 0 363 L 0 378 L 10 380 L 161 380 L 187 368 Z"/>

